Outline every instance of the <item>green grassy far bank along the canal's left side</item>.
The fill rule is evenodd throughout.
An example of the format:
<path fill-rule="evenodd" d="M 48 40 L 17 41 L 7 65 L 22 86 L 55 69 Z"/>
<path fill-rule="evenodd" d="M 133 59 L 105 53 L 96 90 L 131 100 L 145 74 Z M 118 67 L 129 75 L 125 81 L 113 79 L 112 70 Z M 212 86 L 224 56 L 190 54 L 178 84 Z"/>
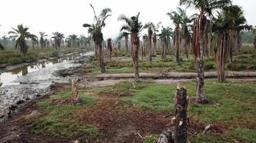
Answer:
<path fill-rule="evenodd" d="M 74 51 L 82 51 L 80 48 L 62 48 L 60 51 L 55 49 L 45 49 L 42 51 L 41 49 L 29 49 L 27 51 L 26 56 L 22 56 L 17 49 L 6 49 L 4 51 L 0 51 L 0 64 L 21 64 L 22 62 L 32 62 L 37 59 L 46 59 L 48 57 L 56 57 L 60 54 L 68 54 Z"/>

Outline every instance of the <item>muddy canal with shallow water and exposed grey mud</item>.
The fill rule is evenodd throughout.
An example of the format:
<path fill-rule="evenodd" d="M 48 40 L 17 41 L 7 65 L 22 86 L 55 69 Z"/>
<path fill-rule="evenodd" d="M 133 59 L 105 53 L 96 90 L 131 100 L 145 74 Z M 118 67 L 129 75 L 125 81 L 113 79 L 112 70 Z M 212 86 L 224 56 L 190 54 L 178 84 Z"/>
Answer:
<path fill-rule="evenodd" d="M 0 122 L 6 119 L 10 107 L 18 102 L 26 102 L 49 91 L 52 82 L 68 82 L 67 78 L 55 77 L 53 73 L 61 69 L 79 66 L 75 59 L 88 59 L 93 53 L 73 54 L 59 59 L 22 66 L 0 74 Z M 12 112 L 12 111 L 11 111 Z"/>

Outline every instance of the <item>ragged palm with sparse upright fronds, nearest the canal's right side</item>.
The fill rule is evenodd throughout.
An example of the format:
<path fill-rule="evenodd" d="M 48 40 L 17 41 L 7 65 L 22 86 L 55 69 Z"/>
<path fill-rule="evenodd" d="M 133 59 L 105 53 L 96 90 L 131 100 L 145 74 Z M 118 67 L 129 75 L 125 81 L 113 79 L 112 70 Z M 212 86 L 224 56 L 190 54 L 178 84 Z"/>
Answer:
<path fill-rule="evenodd" d="M 98 51 L 99 51 L 99 66 L 101 68 L 101 73 L 104 73 L 106 71 L 105 69 L 105 65 L 104 65 L 104 57 L 103 57 L 103 49 L 102 49 L 102 43 L 104 41 L 103 39 L 103 34 L 101 32 L 101 29 L 106 26 L 106 18 L 111 16 L 111 14 L 109 14 L 111 12 L 111 9 L 106 8 L 106 9 L 102 9 L 101 10 L 101 14 L 99 14 L 99 16 L 96 15 L 96 12 L 93 8 L 93 6 L 90 4 L 91 8 L 93 9 L 93 13 L 94 13 L 94 19 L 96 20 L 96 24 L 83 24 L 83 27 L 88 27 L 88 32 L 91 33 L 91 35 L 93 36 L 93 41 L 94 44 L 96 45 L 96 47 L 98 47 Z"/>

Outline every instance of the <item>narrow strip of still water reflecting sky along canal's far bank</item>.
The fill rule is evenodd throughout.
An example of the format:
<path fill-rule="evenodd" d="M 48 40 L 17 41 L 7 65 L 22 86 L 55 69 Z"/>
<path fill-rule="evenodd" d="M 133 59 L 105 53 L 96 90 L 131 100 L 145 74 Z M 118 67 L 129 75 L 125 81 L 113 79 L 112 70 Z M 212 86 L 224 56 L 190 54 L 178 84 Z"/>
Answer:
<path fill-rule="evenodd" d="M 22 77 L 27 75 L 30 72 L 38 71 L 47 66 L 52 66 L 53 64 L 58 64 L 60 62 L 70 61 L 71 59 L 80 56 L 83 54 L 75 54 L 70 56 L 61 57 L 58 59 L 50 59 L 47 61 L 43 61 L 42 63 L 32 64 L 29 66 L 22 66 L 17 69 L 12 69 L 11 71 L 0 73 L 0 87 L 4 87 L 7 85 L 18 85 L 19 82 L 14 82 L 18 77 Z"/>

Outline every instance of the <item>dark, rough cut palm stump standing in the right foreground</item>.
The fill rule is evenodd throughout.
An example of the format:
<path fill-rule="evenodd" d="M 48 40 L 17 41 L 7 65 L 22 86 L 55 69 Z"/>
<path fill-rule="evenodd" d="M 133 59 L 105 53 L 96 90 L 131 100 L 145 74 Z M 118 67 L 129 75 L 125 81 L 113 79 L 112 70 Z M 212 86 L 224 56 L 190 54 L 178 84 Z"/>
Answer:
<path fill-rule="evenodd" d="M 188 99 L 187 92 L 183 85 L 178 84 L 175 94 L 175 116 L 174 129 L 168 129 L 160 134 L 159 143 L 186 143 L 188 133 L 188 117 L 187 117 Z"/>

